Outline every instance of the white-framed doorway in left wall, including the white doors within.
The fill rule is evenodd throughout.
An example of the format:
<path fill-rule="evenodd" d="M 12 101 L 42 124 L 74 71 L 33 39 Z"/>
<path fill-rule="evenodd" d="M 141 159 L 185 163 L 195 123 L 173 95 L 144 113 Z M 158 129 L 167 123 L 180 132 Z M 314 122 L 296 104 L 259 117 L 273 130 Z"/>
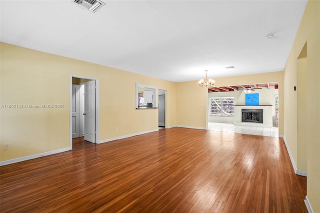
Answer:
<path fill-rule="evenodd" d="M 99 79 L 70 74 L 70 149 L 74 137 L 99 143 L 98 106 Z"/>

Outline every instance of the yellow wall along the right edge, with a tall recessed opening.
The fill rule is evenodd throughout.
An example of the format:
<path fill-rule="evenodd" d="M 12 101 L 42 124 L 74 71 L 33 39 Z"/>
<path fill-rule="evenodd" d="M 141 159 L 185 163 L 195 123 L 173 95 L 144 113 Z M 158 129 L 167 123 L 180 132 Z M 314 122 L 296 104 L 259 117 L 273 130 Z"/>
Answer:
<path fill-rule="evenodd" d="M 306 43 L 306 54 L 303 46 Z M 302 50 L 302 51 L 301 51 Z M 301 54 L 300 54 L 301 53 Z M 297 81 L 297 65 L 301 55 L 306 56 L 306 110 L 297 106 L 297 91 L 293 86 Z M 300 59 L 299 59 L 300 60 Z M 284 138 L 289 146 L 296 165 L 301 166 L 300 159 L 306 158 L 307 171 L 307 197 L 314 212 L 320 212 L 320 1 L 309 0 L 298 27 L 284 68 Z M 303 83 L 302 83 L 303 85 Z M 297 87 L 297 90 L 299 87 Z M 300 109 L 301 108 L 301 109 Z M 300 110 L 303 110 L 302 112 Z M 306 152 L 300 149 L 297 142 L 296 114 L 304 113 L 306 116 Z M 303 131 L 303 130 L 302 130 Z M 305 148 L 305 147 L 304 147 Z M 303 153 L 304 152 L 304 153 Z"/>

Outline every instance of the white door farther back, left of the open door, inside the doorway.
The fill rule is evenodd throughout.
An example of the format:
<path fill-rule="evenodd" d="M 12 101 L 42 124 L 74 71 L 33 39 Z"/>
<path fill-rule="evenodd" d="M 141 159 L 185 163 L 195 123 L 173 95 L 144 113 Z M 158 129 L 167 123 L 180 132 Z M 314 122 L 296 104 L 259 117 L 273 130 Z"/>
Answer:
<path fill-rule="evenodd" d="M 79 85 L 72 84 L 72 138 L 80 136 Z"/>

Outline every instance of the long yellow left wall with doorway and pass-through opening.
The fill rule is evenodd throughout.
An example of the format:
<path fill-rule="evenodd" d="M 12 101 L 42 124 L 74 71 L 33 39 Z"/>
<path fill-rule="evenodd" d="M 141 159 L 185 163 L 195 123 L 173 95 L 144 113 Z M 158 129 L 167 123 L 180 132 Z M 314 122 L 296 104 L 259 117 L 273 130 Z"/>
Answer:
<path fill-rule="evenodd" d="M 6 43 L 0 45 L 0 104 L 24 106 L 0 108 L 1 161 L 69 147 L 70 73 L 100 79 L 100 140 L 158 128 L 157 109 L 135 109 L 135 83 L 166 90 L 166 126 L 176 124 L 175 83 L 171 81 Z M 30 108 L 29 104 L 64 107 Z M 6 143 L 9 149 L 3 149 Z"/>

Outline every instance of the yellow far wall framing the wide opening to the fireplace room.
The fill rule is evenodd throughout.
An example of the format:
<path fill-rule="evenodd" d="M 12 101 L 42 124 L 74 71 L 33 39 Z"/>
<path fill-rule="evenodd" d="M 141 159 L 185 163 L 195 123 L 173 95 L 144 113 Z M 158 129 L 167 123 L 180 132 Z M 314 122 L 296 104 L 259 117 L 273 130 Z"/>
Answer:
<path fill-rule="evenodd" d="M 279 135 L 283 135 L 283 71 L 214 78 L 214 86 L 252 83 L 279 83 Z M 206 128 L 208 93 L 197 81 L 176 83 L 176 123 L 181 126 Z M 204 107 L 202 107 L 204 104 Z"/>

